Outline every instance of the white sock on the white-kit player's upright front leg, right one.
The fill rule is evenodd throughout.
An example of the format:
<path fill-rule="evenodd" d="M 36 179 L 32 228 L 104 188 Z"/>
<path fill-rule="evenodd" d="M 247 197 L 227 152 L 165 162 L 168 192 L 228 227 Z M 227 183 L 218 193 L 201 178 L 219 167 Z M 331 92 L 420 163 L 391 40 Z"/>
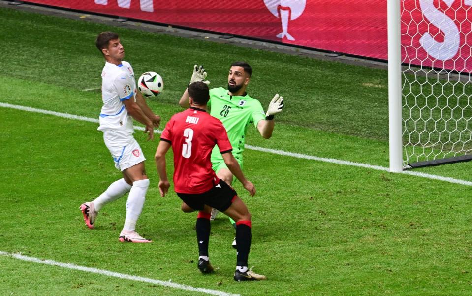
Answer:
<path fill-rule="evenodd" d="M 126 219 L 123 231 L 126 233 L 136 230 L 136 222 L 143 210 L 144 200 L 146 200 L 146 192 L 149 187 L 149 179 L 134 181 L 129 191 L 128 200 L 126 201 Z"/>

